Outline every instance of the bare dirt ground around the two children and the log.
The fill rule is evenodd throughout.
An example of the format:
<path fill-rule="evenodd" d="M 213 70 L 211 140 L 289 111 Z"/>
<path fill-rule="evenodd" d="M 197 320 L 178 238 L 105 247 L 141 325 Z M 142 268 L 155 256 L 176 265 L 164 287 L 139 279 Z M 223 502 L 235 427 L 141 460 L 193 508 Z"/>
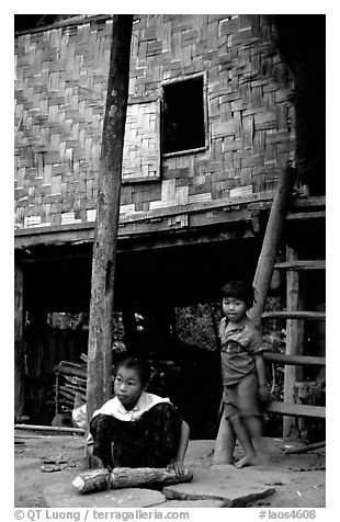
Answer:
<path fill-rule="evenodd" d="M 149 506 L 184 507 L 201 501 L 196 507 L 211 507 L 209 502 L 215 502 L 215 507 L 325 508 L 325 447 L 305 454 L 285 454 L 287 446 L 298 447 L 298 444 L 265 439 L 269 462 L 237 469 L 235 466 L 212 466 L 214 441 L 191 441 L 185 464 L 194 472 L 193 481 L 167 488 L 161 500 Z M 236 457 L 241 455 L 237 447 Z M 14 464 L 15 508 L 81 508 L 95 506 L 100 500 L 100 493 L 81 496 L 71 487 L 73 478 L 84 469 L 82 436 L 42 435 L 16 430 Z M 120 495 L 125 495 L 123 501 L 127 502 L 124 507 L 136 507 L 138 502 L 139 507 L 146 506 L 147 492 L 129 493 L 120 490 Z M 135 503 L 128 506 L 126 499 L 133 497 Z M 113 507 L 113 490 L 111 498 L 109 495 L 105 498 L 102 507 Z"/>

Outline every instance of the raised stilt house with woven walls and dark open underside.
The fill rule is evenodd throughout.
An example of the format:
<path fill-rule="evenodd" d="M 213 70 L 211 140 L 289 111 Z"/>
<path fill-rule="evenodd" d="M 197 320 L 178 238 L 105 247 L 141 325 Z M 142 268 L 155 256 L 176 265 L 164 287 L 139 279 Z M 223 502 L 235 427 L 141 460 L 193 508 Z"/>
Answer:
<path fill-rule="evenodd" d="M 32 423 L 54 415 L 55 365 L 87 352 L 111 26 L 110 15 L 91 15 L 15 33 L 15 416 Z M 177 401 L 185 409 L 195 390 L 197 436 L 217 416 L 218 347 L 205 347 L 195 370 L 202 347 L 181 345 L 178 311 L 218 304 L 230 277 L 252 281 L 287 167 L 299 177 L 279 257 L 325 260 L 324 50 L 318 15 L 134 16 L 116 309 L 127 342 L 143 317 L 144 349 L 159 361 L 182 350 Z M 322 271 L 303 273 L 275 270 L 270 295 L 297 292 L 298 306 L 325 311 Z M 63 314 L 78 322 L 63 327 Z M 214 340 L 201 319 L 197 345 Z M 325 355 L 322 321 L 292 321 L 295 353 Z M 308 378 L 303 371 L 285 393 Z"/>

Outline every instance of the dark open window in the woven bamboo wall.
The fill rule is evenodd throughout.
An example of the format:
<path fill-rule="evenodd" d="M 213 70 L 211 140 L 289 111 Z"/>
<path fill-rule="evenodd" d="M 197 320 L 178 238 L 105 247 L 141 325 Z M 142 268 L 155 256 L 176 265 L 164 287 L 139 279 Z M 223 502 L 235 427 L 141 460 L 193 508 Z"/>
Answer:
<path fill-rule="evenodd" d="M 205 146 L 203 86 L 203 76 L 163 86 L 163 154 Z"/>

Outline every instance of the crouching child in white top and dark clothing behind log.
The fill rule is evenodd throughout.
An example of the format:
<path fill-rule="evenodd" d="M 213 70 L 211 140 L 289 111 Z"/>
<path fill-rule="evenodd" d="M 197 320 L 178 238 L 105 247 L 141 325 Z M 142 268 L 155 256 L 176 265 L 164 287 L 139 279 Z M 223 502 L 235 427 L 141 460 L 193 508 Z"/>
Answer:
<path fill-rule="evenodd" d="M 139 356 L 117 364 L 115 397 L 94 411 L 90 422 L 90 454 L 114 467 L 172 467 L 183 475 L 190 429 L 169 398 L 145 390 L 150 368 Z"/>

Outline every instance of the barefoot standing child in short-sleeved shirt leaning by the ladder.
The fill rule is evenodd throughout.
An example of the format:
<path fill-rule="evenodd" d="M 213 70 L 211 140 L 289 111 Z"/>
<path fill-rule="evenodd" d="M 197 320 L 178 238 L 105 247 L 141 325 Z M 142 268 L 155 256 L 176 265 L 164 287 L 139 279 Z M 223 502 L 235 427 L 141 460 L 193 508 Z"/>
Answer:
<path fill-rule="evenodd" d="M 252 443 L 262 435 L 258 396 L 269 400 L 262 336 L 247 316 L 253 304 L 253 291 L 243 281 L 230 281 L 222 288 L 225 317 L 219 325 L 223 371 L 223 401 L 226 420 L 246 455 L 236 467 L 259 464 Z"/>

